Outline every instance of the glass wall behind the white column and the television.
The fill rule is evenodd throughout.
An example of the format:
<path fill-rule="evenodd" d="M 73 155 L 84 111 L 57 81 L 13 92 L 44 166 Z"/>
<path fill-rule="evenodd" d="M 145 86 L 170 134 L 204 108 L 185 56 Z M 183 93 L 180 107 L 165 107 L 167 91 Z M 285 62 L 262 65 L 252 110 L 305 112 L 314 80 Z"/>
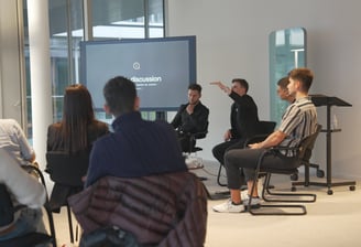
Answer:
<path fill-rule="evenodd" d="M 26 0 L 23 2 L 28 132 L 31 138 L 28 8 Z M 91 26 L 92 35 L 89 40 L 164 36 L 163 0 L 88 0 L 88 7 L 89 19 L 84 21 L 84 0 L 48 0 L 54 122 L 62 118 L 65 87 L 81 83 L 79 82 L 79 44 L 85 40 L 85 26 Z M 103 112 L 97 112 L 97 116 L 107 118 Z"/>

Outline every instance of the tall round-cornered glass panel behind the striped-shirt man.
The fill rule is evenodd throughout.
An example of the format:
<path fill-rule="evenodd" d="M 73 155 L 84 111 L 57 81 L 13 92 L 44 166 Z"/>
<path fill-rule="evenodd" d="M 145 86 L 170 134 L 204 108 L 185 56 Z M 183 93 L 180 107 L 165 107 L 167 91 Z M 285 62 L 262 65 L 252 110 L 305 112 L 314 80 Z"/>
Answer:
<path fill-rule="evenodd" d="M 271 120 L 280 122 L 287 101 L 276 94 L 277 82 L 295 67 L 306 66 L 306 30 L 292 28 L 270 34 Z"/>

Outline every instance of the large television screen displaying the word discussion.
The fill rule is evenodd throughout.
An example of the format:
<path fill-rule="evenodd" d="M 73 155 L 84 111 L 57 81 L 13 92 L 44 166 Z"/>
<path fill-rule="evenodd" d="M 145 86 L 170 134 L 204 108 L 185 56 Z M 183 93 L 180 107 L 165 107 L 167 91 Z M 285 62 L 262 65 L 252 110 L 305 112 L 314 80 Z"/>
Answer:
<path fill-rule="evenodd" d="M 196 36 L 87 41 L 80 44 L 80 78 L 96 109 L 103 85 L 122 75 L 136 86 L 141 110 L 177 110 L 196 83 Z"/>

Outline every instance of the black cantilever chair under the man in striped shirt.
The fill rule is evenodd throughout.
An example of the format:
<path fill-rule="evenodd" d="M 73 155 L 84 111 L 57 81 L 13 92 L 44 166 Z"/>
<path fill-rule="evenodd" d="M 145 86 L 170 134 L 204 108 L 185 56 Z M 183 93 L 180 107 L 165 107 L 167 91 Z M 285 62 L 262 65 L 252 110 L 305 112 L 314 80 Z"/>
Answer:
<path fill-rule="evenodd" d="M 270 181 L 272 174 L 294 174 L 298 172 L 297 168 L 291 168 L 291 169 L 270 169 L 262 167 L 262 161 L 264 157 L 270 152 L 275 152 L 280 150 L 296 150 L 296 162 L 298 163 L 298 167 L 302 165 L 304 155 L 308 149 L 310 149 L 321 129 L 321 126 L 317 126 L 317 130 L 315 133 L 310 135 L 309 137 L 305 138 L 299 147 L 296 148 L 284 148 L 284 147 L 275 147 L 272 149 L 265 150 L 258 160 L 258 168 L 255 170 L 254 181 L 259 178 L 261 173 L 265 174 L 265 182 L 262 191 L 262 197 L 265 202 L 271 203 L 311 203 L 316 202 L 316 194 L 310 193 L 276 193 L 271 191 L 270 187 Z M 253 183 L 252 192 L 255 190 L 256 183 Z M 260 208 L 278 208 L 278 211 L 262 211 L 260 208 L 252 208 L 250 205 L 252 203 L 252 197 L 249 200 L 248 211 L 252 215 L 305 215 L 307 214 L 306 206 L 302 204 L 262 204 Z M 296 212 L 284 212 L 281 208 L 298 208 L 299 211 Z"/>

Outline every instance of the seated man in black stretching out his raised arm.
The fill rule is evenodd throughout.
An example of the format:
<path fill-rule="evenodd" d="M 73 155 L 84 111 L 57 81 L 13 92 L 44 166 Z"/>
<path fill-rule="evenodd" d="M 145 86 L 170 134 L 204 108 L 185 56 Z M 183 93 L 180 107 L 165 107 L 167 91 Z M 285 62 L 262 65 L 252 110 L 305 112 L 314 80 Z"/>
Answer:
<path fill-rule="evenodd" d="M 221 82 L 210 83 L 217 85 L 232 100 L 230 124 L 231 128 L 223 135 L 223 142 L 212 149 L 214 157 L 221 165 L 225 164 L 225 153 L 231 149 L 242 149 L 244 141 L 259 132 L 259 111 L 253 98 L 248 95 L 249 84 L 245 79 L 232 79 L 232 87 L 223 85 Z M 243 172 L 241 172 L 243 174 Z M 252 174 L 250 174 L 252 176 Z M 240 183 L 240 186 L 244 182 Z"/>

